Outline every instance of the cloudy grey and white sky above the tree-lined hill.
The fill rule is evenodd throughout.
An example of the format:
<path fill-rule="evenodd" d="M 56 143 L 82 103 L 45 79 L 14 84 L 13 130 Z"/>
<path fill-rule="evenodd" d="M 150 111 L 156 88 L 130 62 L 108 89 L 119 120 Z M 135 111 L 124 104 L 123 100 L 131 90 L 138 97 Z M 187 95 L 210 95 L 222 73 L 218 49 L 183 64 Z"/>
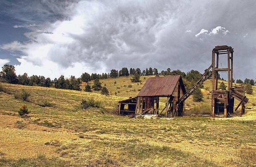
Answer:
<path fill-rule="evenodd" d="M 0 66 L 51 79 L 122 67 L 203 73 L 227 45 L 233 78 L 255 79 L 255 9 L 254 0 L 0 0 Z"/>

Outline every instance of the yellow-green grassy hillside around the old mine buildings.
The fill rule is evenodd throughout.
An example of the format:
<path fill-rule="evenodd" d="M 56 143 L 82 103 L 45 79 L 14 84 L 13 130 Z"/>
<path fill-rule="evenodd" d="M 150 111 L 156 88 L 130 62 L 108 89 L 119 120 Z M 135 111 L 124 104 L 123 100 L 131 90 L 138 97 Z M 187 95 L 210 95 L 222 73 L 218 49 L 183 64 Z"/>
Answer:
<path fill-rule="evenodd" d="M 128 90 L 143 85 L 131 83 L 130 77 L 106 79 L 105 83 L 110 96 L 2 83 L 9 94 L 0 92 L 0 166 L 236 167 L 255 163 L 255 109 L 234 119 L 127 118 L 114 113 L 117 101 L 136 96 L 138 91 Z M 132 87 L 124 89 L 128 84 Z M 205 86 L 209 84 L 208 80 Z M 113 95 L 119 90 L 116 87 L 120 87 L 117 96 Z M 31 93 L 29 101 L 14 97 L 20 89 Z M 253 89 L 247 106 L 255 99 Z M 81 99 L 88 98 L 101 101 L 101 107 L 81 109 Z M 45 99 L 51 107 L 40 106 Z M 194 102 L 189 99 L 187 103 Z M 31 111 L 28 116 L 17 114 L 22 104 Z"/>

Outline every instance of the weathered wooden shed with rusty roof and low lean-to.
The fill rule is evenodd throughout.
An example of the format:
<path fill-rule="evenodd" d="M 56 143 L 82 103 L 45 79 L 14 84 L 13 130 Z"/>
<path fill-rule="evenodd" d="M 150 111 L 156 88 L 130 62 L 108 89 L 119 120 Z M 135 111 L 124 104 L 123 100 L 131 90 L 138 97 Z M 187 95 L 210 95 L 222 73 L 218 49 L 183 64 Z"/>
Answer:
<path fill-rule="evenodd" d="M 180 75 L 148 78 L 136 98 L 119 101 L 119 113 L 125 114 L 128 111 L 137 115 L 145 113 L 160 114 L 166 109 L 166 117 L 167 115 L 181 116 L 184 104 L 181 103 L 177 106 L 176 102 L 185 93 L 186 89 Z M 167 99 L 166 107 L 159 112 L 160 97 L 166 97 Z M 125 104 L 133 107 L 123 109 Z"/>

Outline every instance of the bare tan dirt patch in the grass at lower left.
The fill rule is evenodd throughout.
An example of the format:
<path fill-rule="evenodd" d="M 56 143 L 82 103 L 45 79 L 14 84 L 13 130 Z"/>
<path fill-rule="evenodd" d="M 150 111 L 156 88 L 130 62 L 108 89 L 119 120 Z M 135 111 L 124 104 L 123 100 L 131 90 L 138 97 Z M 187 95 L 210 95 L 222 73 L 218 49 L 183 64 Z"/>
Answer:
<path fill-rule="evenodd" d="M 23 124 L 23 128 L 18 126 Z M 26 158 L 44 154 L 57 156 L 56 146 L 45 144 L 51 141 L 68 142 L 79 140 L 78 135 L 70 130 L 48 128 L 29 124 L 24 118 L 0 115 L 0 151 L 6 158 Z"/>

